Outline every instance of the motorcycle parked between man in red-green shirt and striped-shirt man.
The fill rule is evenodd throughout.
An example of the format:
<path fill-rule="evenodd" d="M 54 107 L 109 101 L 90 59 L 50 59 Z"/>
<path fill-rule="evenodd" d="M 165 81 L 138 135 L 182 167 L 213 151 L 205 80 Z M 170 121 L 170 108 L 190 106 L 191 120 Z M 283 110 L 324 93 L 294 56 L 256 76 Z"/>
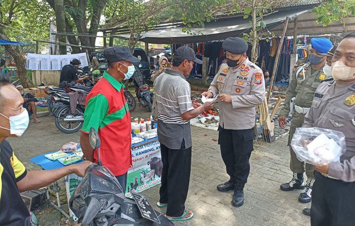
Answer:
<path fill-rule="evenodd" d="M 148 107 L 148 111 L 152 111 L 153 93 L 150 91 L 149 86 L 145 83 L 143 74 L 137 66 L 133 74 L 133 82 L 135 85 L 135 93 L 139 101 L 139 105 Z"/>

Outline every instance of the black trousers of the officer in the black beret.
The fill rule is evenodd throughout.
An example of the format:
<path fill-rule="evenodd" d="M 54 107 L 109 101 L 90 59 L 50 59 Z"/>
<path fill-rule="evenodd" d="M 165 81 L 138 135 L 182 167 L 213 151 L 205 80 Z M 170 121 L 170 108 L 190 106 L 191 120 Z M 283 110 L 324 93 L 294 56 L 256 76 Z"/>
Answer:
<path fill-rule="evenodd" d="M 231 182 L 245 184 L 250 172 L 254 129 L 228 130 L 219 127 L 218 143 Z"/>

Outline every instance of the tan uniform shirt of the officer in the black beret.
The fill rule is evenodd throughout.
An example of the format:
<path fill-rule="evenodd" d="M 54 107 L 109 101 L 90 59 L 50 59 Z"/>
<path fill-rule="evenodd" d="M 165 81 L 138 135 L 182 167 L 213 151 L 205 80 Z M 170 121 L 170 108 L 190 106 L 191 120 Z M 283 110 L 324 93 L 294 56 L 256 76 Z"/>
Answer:
<path fill-rule="evenodd" d="M 218 102 L 220 126 L 224 129 L 242 130 L 255 126 L 256 107 L 264 101 L 263 71 L 246 59 L 240 67 L 222 64 L 208 89 L 215 94 L 232 96 L 232 103 Z"/>

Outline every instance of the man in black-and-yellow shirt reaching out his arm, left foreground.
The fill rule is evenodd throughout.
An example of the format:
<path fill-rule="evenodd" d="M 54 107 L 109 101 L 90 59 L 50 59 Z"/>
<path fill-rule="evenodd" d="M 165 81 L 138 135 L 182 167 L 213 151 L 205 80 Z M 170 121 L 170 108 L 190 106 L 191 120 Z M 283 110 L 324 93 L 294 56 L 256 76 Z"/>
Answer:
<path fill-rule="evenodd" d="M 70 173 L 83 176 L 91 164 L 84 162 L 55 170 L 27 171 L 16 158 L 8 137 L 19 137 L 28 126 L 21 94 L 0 78 L 0 225 L 29 226 L 30 216 L 20 192 L 39 189 Z"/>

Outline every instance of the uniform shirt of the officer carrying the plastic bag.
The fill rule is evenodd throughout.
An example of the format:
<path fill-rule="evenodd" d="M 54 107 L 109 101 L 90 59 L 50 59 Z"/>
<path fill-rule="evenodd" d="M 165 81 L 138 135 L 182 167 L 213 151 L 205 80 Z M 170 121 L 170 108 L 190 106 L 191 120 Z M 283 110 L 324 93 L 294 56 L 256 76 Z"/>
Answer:
<path fill-rule="evenodd" d="M 340 162 L 329 164 L 328 175 L 352 182 L 355 181 L 355 83 L 335 95 L 334 89 L 334 80 L 317 88 L 302 127 L 332 129 L 345 135 L 346 152 Z"/>

